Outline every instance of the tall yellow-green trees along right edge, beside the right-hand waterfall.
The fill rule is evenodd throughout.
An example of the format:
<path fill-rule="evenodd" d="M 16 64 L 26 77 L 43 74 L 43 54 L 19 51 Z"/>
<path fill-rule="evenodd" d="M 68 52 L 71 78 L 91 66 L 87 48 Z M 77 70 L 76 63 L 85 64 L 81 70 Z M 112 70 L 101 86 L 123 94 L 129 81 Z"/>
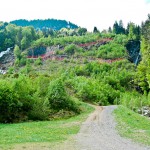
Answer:
<path fill-rule="evenodd" d="M 137 84 L 145 94 L 150 91 L 150 17 L 142 24 L 141 53 L 142 61 L 138 65 Z"/>

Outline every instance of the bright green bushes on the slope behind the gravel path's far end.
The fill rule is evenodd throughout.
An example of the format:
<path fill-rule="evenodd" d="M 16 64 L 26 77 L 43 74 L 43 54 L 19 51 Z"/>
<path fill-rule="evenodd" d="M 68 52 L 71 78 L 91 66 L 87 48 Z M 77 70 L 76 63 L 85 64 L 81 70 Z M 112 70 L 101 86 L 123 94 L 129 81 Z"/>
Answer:
<path fill-rule="evenodd" d="M 121 93 L 131 89 L 134 65 L 127 60 L 112 64 L 98 62 L 76 66 L 66 85 L 76 97 L 99 105 L 118 104 Z"/>

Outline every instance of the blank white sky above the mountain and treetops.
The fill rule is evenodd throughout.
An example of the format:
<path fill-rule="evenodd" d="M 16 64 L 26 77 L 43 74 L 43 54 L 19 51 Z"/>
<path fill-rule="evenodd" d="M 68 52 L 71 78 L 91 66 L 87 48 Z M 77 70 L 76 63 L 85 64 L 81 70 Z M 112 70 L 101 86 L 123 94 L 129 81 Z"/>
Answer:
<path fill-rule="evenodd" d="M 115 21 L 141 24 L 150 13 L 150 0 L 1 0 L 0 21 L 62 19 L 92 31 Z"/>

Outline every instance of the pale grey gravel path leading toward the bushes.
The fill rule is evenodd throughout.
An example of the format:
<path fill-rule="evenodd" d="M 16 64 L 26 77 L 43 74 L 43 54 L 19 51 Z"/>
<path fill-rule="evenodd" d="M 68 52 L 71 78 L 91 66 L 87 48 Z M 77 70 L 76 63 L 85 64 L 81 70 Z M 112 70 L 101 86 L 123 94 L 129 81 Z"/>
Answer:
<path fill-rule="evenodd" d="M 112 116 L 115 108 L 116 106 L 96 107 L 75 137 L 76 150 L 150 150 L 150 147 L 133 143 L 118 135 Z"/>

